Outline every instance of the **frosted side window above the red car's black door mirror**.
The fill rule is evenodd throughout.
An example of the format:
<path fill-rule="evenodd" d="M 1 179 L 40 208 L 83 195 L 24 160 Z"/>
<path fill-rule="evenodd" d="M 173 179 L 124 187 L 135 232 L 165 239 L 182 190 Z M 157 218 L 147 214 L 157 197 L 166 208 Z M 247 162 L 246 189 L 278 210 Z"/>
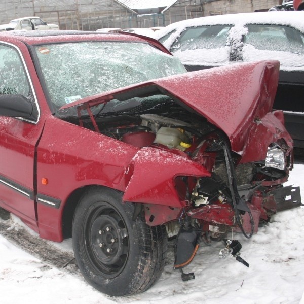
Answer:
<path fill-rule="evenodd" d="M 0 94 L 21 94 L 33 98 L 18 52 L 0 45 Z"/>

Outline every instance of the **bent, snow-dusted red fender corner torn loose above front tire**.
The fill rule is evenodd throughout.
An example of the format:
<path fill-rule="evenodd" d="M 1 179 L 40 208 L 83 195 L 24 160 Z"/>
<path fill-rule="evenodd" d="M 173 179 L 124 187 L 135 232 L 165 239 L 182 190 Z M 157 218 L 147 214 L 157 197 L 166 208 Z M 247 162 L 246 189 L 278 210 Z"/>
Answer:
<path fill-rule="evenodd" d="M 130 163 L 133 174 L 123 201 L 183 207 L 174 179 L 177 176 L 210 177 L 200 164 L 160 149 L 145 147 Z"/>

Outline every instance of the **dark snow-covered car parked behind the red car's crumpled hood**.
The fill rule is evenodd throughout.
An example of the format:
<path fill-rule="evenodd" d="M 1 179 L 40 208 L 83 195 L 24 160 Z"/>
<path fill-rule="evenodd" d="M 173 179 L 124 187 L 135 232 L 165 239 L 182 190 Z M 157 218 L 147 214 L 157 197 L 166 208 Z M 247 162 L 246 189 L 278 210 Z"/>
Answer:
<path fill-rule="evenodd" d="M 158 39 L 189 71 L 276 59 L 274 108 L 283 110 L 295 147 L 304 148 L 304 26 L 302 12 L 209 16 L 168 25 Z"/>

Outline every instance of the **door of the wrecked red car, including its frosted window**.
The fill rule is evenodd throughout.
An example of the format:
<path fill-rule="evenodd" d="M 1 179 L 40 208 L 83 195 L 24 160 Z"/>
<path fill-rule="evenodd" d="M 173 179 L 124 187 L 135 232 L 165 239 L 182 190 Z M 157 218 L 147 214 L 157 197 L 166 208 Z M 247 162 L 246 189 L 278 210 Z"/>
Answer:
<path fill-rule="evenodd" d="M 12 45 L 0 44 L 0 94 L 27 97 L 37 113 L 35 121 L 0 116 L 0 206 L 37 230 L 35 147 L 43 124 L 28 75 L 21 52 Z"/>

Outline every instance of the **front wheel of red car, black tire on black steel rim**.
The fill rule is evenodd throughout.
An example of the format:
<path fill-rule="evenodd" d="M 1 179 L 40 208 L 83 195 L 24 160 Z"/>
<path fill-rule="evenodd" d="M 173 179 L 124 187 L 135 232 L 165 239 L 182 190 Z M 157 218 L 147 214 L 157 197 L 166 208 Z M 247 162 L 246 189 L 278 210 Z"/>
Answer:
<path fill-rule="evenodd" d="M 161 276 L 167 254 L 164 226 L 150 227 L 122 193 L 92 187 L 75 210 L 72 243 L 85 279 L 97 290 L 124 296 L 147 290 Z"/>

